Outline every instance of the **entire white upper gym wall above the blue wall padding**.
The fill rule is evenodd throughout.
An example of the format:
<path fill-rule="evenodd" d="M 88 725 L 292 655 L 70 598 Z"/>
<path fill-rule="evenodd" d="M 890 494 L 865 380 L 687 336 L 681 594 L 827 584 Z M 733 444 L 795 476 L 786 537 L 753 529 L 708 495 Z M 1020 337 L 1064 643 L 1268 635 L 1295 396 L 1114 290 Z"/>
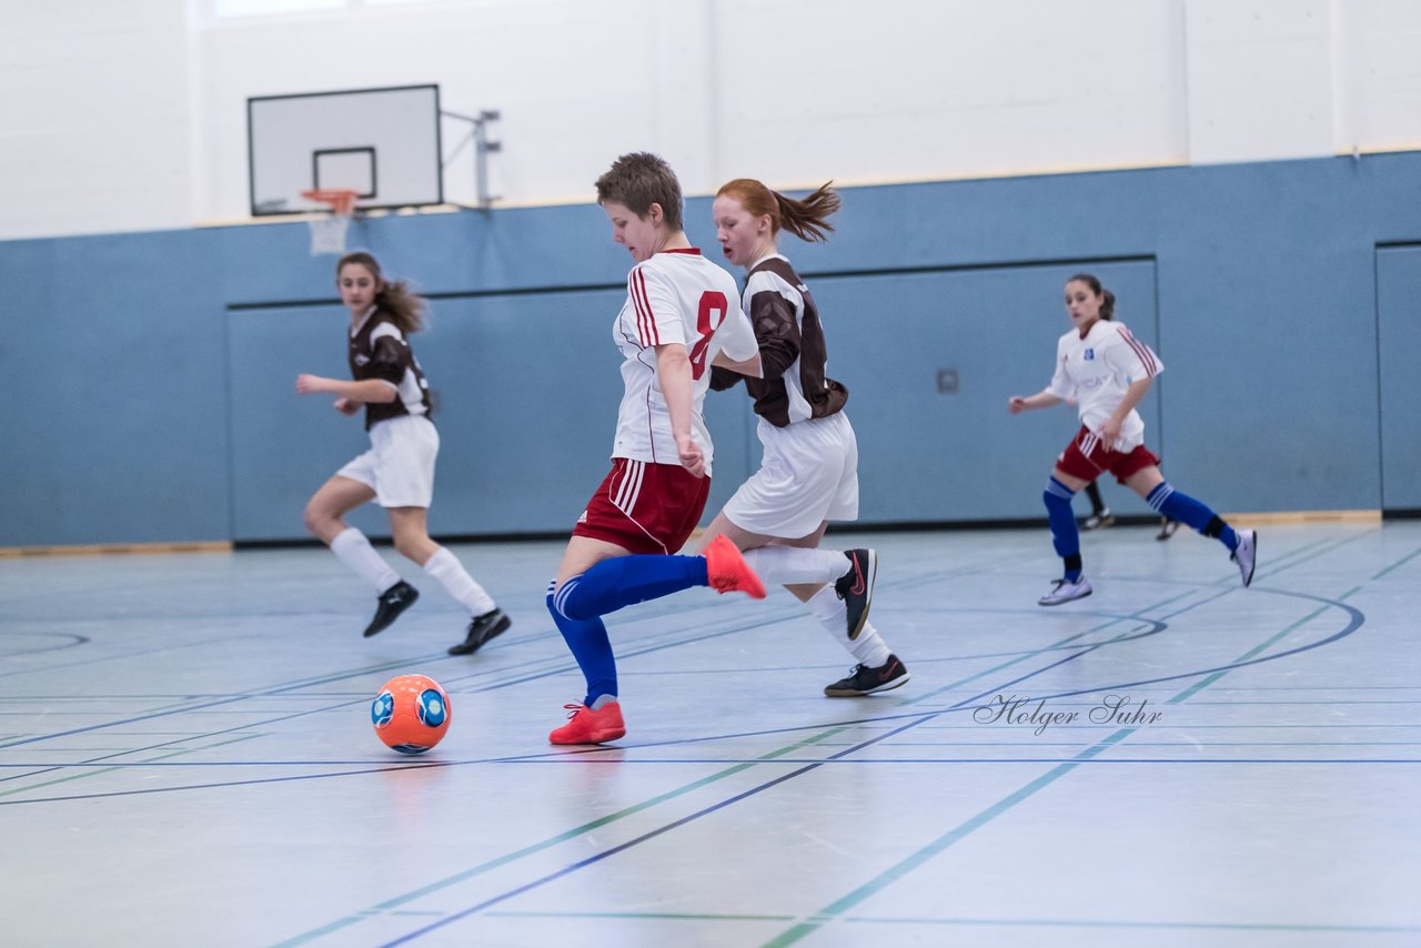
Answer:
<path fill-rule="evenodd" d="M 708 193 L 1421 146 L 1415 0 L 210 4 L 0 3 L 0 239 L 246 219 L 249 97 L 425 82 L 502 112 L 506 205 L 635 149 Z"/>

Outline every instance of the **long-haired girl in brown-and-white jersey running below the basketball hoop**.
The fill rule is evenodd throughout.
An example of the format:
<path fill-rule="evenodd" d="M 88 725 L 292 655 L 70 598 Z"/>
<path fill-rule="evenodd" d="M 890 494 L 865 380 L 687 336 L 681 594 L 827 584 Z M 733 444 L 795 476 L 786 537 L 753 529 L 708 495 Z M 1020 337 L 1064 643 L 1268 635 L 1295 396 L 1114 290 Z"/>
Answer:
<path fill-rule="evenodd" d="M 378 500 L 389 515 L 395 549 L 469 610 L 465 641 L 449 650 L 466 655 L 503 632 L 512 620 L 453 553 L 429 539 L 439 432 L 429 419 L 429 385 L 406 338 L 421 328 L 425 301 L 404 281 L 385 280 L 375 257 L 362 252 L 348 253 L 335 264 L 335 286 L 351 317 L 347 352 L 355 381 L 297 375 L 296 391 L 335 395 L 335 411 L 342 415 L 364 408 L 371 449 L 321 485 L 306 505 L 306 529 L 375 587 L 375 618 L 365 628 L 367 637 L 374 635 L 419 597 L 375 553 L 365 534 L 345 523 L 350 510 Z"/>

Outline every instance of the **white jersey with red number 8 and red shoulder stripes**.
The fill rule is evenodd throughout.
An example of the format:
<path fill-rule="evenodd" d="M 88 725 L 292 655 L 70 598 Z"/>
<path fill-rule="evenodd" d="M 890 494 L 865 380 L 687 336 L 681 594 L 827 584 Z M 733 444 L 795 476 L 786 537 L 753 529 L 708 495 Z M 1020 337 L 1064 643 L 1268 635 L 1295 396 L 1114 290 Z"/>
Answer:
<path fill-rule="evenodd" d="M 710 387 L 710 362 L 725 351 L 743 361 L 759 351 L 750 321 L 740 310 L 735 277 L 701 252 L 662 250 L 627 276 L 627 303 L 612 324 L 622 358 L 621 408 L 612 458 L 679 465 L 671 414 L 657 381 L 657 345 L 679 343 L 691 357 L 691 431 L 710 476 L 713 445 L 701 408 Z"/>

